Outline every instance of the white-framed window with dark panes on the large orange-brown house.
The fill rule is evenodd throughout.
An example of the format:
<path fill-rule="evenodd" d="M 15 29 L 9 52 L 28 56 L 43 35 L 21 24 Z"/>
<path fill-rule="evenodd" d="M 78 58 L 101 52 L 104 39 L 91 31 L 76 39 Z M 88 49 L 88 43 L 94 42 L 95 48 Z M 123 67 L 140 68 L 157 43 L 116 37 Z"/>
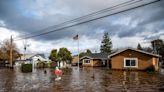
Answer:
<path fill-rule="evenodd" d="M 124 58 L 124 67 L 138 67 L 137 58 Z"/>

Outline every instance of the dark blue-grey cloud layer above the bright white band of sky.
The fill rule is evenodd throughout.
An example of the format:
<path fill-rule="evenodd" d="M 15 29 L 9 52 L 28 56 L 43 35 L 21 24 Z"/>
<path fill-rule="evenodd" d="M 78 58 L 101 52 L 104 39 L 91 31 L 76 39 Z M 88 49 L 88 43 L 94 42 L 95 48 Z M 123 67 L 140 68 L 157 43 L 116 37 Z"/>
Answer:
<path fill-rule="evenodd" d="M 2 0 L 0 3 L 0 20 L 3 20 L 10 29 L 20 33 L 31 33 L 118 3 L 120 2 L 116 0 L 113 0 L 112 3 L 106 0 Z M 142 32 L 160 32 L 164 24 L 163 5 L 164 1 L 161 1 L 33 39 L 53 41 L 71 38 L 77 33 L 86 35 L 90 39 L 101 39 L 102 33 L 99 31 L 106 31 L 109 32 L 110 36 L 118 35 L 120 38 L 136 36 Z M 126 20 L 122 21 L 125 18 L 130 18 L 127 25 L 124 24 L 127 22 Z M 113 22 L 119 23 L 120 21 L 123 23 L 113 24 Z M 135 26 L 132 25 L 134 22 Z M 154 27 L 148 29 L 152 25 Z"/>

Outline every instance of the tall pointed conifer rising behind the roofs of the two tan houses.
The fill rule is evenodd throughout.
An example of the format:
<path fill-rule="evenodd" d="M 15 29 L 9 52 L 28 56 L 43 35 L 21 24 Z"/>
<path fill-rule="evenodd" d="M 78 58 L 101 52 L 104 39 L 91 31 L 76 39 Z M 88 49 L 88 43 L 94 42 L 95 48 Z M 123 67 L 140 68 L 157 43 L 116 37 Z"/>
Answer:
<path fill-rule="evenodd" d="M 101 53 L 111 53 L 112 41 L 107 32 L 104 32 L 103 40 L 101 41 Z"/>

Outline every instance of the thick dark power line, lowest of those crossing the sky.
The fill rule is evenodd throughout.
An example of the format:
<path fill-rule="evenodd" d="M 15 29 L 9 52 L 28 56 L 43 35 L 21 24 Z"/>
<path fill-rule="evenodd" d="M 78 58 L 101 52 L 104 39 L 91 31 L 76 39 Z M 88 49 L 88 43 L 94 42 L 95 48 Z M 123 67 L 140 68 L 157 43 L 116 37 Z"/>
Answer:
<path fill-rule="evenodd" d="M 142 0 L 139 0 L 139 1 L 142 1 Z M 59 28 L 59 29 L 55 29 L 55 30 L 52 30 L 52 31 L 40 33 L 40 34 L 37 34 L 37 35 L 27 36 L 27 37 L 24 37 L 24 38 L 18 39 L 18 40 L 29 39 L 29 38 L 45 35 L 45 34 L 52 33 L 52 32 L 55 32 L 55 31 L 59 31 L 59 30 L 62 30 L 62 29 L 66 29 L 66 28 L 69 28 L 69 27 L 77 26 L 77 25 L 80 25 L 80 24 L 84 24 L 84 23 L 91 22 L 91 21 L 94 21 L 94 20 L 98 20 L 98 19 L 101 19 L 101 18 L 105 18 L 105 17 L 108 17 L 108 16 L 116 15 L 116 14 L 119 14 L 119 13 L 122 13 L 122 12 L 126 12 L 126 11 L 129 11 L 129 10 L 133 10 L 133 9 L 136 9 L 136 8 L 139 8 L 139 7 L 147 6 L 147 5 L 159 2 L 159 1 L 161 1 L 161 0 L 155 0 L 155 1 L 152 1 L 152 2 L 149 2 L 149 3 L 146 3 L 146 4 L 142 4 L 142 5 L 139 5 L 139 6 L 135 6 L 135 7 L 126 9 L 126 10 L 122 10 L 122 11 L 118 11 L 118 12 L 115 12 L 115 13 L 112 13 L 112 14 L 107 14 L 107 15 L 104 15 L 104 16 L 101 16 L 101 17 L 98 17 L 98 18 L 93 18 L 93 19 L 90 19 L 90 20 L 82 21 L 82 22 L 79 22 L 79 23 L 75 23 L 75 24 L 72 24 L 72 25 L 69 25 L 69 26 L 65 26 L 65 27 L 62 27 L 62 28 Z"/>

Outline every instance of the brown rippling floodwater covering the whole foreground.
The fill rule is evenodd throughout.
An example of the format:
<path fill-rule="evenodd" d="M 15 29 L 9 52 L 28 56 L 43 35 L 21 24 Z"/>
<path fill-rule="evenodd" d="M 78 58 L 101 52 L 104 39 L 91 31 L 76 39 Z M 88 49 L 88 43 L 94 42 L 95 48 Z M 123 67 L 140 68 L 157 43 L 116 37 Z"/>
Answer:
<path fill-rule="evenodd" d="M 44 70 L 0 69 L 0 92 L 164 92 L 162 74 L 73 67 L 55 81 L 52 69 Z"/>

